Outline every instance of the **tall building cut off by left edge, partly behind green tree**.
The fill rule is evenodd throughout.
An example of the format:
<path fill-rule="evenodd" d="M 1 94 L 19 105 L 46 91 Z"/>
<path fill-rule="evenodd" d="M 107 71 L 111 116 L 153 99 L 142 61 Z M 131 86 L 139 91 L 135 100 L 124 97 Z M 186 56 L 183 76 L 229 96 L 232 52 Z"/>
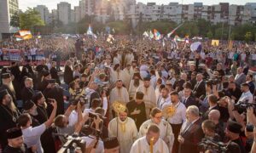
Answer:
<path fill-rule="evenodd" d="M 0 39 L 4 34 L 15 32 L 16 29 L 10 26 L 11 17 L 19 12 L 18 0 L 0 1 Z"/>

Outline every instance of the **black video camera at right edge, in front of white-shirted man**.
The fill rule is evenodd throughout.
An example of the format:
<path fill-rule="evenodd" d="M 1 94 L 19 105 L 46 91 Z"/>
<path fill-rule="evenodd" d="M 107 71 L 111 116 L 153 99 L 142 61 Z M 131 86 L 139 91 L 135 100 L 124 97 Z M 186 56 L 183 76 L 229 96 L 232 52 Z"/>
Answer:
<path fill-rule="evenodd" d="M 248 103 L 248 99 L 245 101 L 238 101 L 235 104 L 234 110 L 238 111 L 239 113 L 247 112 L 247 108 L 253 107 L 253 113 L 256 115 L 256 103 Z"/>

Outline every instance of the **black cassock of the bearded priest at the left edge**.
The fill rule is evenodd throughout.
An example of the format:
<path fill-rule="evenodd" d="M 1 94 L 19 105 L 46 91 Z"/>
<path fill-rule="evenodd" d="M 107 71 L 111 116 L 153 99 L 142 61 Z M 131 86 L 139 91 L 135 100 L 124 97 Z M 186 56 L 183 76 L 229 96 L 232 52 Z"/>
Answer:
<path fill-rule="evenodd" d="M 6 131 L 9 128 L 16 127 L 16 121 L 19 117 L 19 111 L 11 111 L 8 106 L 0 105 L 0 144 L 2 148 L 8 144 Z"/>

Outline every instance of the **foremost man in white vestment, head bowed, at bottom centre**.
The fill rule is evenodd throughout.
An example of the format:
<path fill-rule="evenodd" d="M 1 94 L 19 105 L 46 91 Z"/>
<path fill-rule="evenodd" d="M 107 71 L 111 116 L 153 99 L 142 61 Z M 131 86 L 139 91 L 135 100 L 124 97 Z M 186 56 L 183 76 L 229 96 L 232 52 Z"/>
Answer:
<path fill-rule="evenodd" d="M 137 139 L 130 153 L 170 153 L 164 140 L 160 139 L 160 129 L 156 125 L 148 127 L 146 136 Z"/>

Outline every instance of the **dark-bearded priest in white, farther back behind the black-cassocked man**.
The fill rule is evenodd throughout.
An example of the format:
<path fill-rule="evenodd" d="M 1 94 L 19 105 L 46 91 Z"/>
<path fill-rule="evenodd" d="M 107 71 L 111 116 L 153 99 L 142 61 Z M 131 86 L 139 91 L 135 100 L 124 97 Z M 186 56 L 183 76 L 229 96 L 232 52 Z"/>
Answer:
<path fill-rule="evenodd" d="M 143 80 L 141 78 L 140 72 L 136 71 L 133 74 L 132 80 L 130 82 L 129 90 L 128 90 L 130 99 L 134 99 L 137 88 L 141 85 L 143 85 Z"/>

